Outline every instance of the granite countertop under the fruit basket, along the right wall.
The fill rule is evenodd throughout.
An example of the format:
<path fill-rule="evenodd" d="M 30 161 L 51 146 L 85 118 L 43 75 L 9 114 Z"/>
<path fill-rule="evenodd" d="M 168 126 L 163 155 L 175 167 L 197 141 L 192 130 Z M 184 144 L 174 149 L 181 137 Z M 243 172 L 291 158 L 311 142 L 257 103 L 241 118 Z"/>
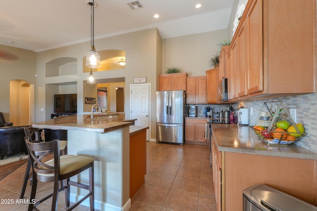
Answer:
<path fill-rule="evenodd" d="M 294 143 L 269 145 L 248 126 L 212 124 L 219 151 L 317 160 L 317 154 Z"/>

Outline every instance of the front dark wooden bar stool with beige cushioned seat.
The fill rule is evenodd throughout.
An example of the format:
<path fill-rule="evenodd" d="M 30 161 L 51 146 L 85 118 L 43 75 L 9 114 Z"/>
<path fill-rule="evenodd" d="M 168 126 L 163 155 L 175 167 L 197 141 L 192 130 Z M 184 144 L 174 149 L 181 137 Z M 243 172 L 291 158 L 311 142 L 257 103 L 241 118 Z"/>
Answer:
<path fill-rule="evenodd" d="M 67 210 L 72 210 L 89 197 L 90 210 L 94 211 L 94 161 L 95 159 L 79 155 L 60 156 L 59 140 L 50 142 L 32 143 L 29 137 L 25 137 L 25 143 L 32 164 L 33 182 L 30 202 L 35 201 L 37 182 L 52 182 L 53 193 L 39 200 L 35 204 L 29 204 L 28 211 L 38 210 L 36 207 L 53 196 L 52 211 L 57 210 L 58 193 L 65 190 L 65 206 L 69 207 L 70 185 L 89 190 L 89 193 Z M 44 163 L 45 158 L 53 153 L 53 159 Z M 70 181 L 70 177 L 89 169 L 89 185 Z M 59 181 L 66 180 L 65 186 L 59 188 Z"/>

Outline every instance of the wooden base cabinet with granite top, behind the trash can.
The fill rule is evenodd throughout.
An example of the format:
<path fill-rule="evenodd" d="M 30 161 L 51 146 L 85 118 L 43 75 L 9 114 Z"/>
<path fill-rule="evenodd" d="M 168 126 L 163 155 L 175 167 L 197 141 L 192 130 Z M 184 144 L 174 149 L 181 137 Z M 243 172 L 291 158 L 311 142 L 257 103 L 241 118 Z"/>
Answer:
<path fill-rule="evenodd" d="M 266 184 L 317 206 L 317 154 L 268 145 L 250 127 L 212 124 L 212 173 L 218 210 L 242 211 L 242 192 Z"/>

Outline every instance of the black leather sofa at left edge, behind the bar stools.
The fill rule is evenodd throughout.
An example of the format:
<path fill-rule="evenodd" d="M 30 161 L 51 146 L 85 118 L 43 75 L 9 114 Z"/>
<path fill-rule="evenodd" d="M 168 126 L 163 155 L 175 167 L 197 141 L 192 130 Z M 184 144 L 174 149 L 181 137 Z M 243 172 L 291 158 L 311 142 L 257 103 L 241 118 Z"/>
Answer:
<path fill-rule="evenodd" d="M 24 128 L 30 126 L 0 127 L 0 160 L 5 155 L 14 155 L 21 152 L 28 154 L 24 142 Z"/>

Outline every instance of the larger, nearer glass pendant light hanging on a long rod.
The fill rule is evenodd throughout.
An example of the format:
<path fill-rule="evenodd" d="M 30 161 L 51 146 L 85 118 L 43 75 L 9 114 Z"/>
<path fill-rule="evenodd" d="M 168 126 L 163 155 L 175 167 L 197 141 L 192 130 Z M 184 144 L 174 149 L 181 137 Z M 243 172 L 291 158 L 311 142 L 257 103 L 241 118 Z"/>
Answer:
<path fill-rule="evenodd" d="M 91 31 L 90 31 L 90 45 L 91 49 L 87 53 L 86 56 L 86 66 L 91 67 L 91 68 L 99 68 L 100 67 L 100 56 L 96 51 L 95 45 L 94 45 L 94 7 L 95 5 L 95 0 L 93 2 L 88 1 L 88 5 L 91 6 Z"/>

